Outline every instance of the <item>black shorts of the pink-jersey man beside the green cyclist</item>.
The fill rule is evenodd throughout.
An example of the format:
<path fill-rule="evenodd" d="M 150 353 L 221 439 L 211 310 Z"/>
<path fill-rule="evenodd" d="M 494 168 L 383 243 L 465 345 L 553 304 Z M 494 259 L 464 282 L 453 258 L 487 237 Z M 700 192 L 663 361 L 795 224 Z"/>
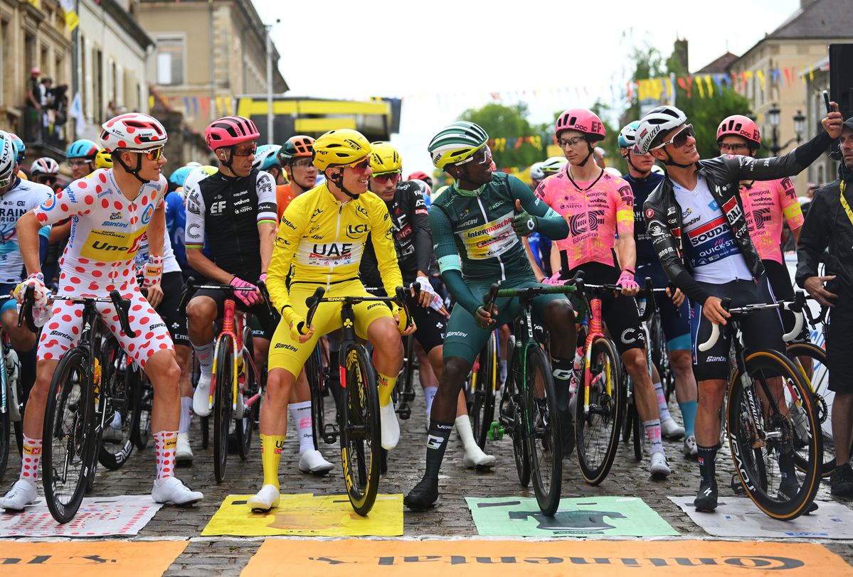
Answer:
<path fill-rule="evenodd" d="M 589 285 L 615 285 L 620 271 L 603 263 L 583 263 L 569 271 L 571 278 L 578 270 L 583 270 L 583 282 Z M 610 332 L 619 355 L 630 349 L 643 349 L 646 346 L 640 326 L 640 313 L 634 297 L 618 297 L 612 291 L 601 295 L 601 319 Z"/>

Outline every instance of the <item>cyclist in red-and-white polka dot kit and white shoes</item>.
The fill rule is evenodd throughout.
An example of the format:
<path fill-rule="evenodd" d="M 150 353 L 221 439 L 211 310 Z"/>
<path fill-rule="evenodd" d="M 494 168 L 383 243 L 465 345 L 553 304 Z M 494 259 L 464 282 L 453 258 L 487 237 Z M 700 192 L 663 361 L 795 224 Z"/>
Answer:
<path fill-rule="evenodd" d="M 142 235 L 150 242 L 145 284 L 160 282 L 163 273 L 163 239 L 167 182 L 165 129 L 147 114 L 122 114 L 103 124 L 103 147 L 113 152 L 112 169 L 96 170 L 72 182 L 55 197 L 20 217 L 18 239 L 27 280 L 15 290 L 19 299 L 25 286 L 33 286 L 36 306 L 49 305 L 49 294 L 38 266 L 38 229 L 71 218 L 71 238 L 62 256 L 59 292 L 78 297 L 107 297 L 118 290 L 131 300 L 128 314 L 136 337 L 119 328 L 119 316 L 109 303 L 98 303 L 104 324 L 136 361 L 154 385 L 151 430 L 154 431 L 157 476 L 151 497 L 157 503 L 189 505 L 202 499 L 176 476 L 175 450 L 179 419 L 178 379 L 181 370 L 169 332 L 160 316 L 142 297 L 136 284 L 134 256 Z M 77 344 L 83 305 L 56 301 L 38 343 L 36 384 L 24 414 L 24 454 L 20 478 L 0 499 L 7 511 L 21 511 L 38 497 L 38 465 L 42 453 L 42 426 L 47 392 L 61 356 Z"/>

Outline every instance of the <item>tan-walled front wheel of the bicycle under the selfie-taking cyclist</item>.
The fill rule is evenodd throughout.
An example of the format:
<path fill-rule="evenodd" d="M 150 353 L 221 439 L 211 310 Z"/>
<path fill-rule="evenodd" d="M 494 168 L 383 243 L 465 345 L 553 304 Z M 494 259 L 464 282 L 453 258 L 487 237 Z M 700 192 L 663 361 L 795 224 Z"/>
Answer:
<path fill-rule="evenodd" d="M 820 485 L 820 421 L 798 369 L 785 356 L 756 351 L 746 357 L 746 370 L 754 389 L 744 388 L 738 370 L 729 383 L 728 443 L 734 467 L 761 511 L 790 521 L 809 511 Z M 774 391 L 769 381 L 777 376 L 781 385 Z M 758 409 L 757 423 L 751 418 L 751 401 Z M 796 461 L 804 470 L 795 468 Z"/>

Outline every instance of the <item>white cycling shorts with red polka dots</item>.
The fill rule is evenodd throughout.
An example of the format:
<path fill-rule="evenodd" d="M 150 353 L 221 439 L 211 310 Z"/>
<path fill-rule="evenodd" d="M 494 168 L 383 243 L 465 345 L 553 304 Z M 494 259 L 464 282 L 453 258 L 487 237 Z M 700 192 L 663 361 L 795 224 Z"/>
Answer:
<path fill-rule="evenodd" d="M 169 330 L 160 314 L 154 312 L 151 305 L 142 297 L 135 282 L 119 289 L 123 298 L 131 300 L 131 309 L 127 315 L 131 329 L 136 337 L 128 337 L 120 330 L 119 315 L 113 303 L 97 303 L 96 309 L 110 332 L 118 339 L 121 348 L 133 357 L 137 366 L 145 368 L 148 358 L 160 350 L 174 350 Z M 38 340 L 38 361 L 59 361 L 68 349 L 76 346 L 80 338 L 80 326 L 83 322 L 83 305 L 71 301 L 54 301 L 53 317 L 42 329 Z"/>

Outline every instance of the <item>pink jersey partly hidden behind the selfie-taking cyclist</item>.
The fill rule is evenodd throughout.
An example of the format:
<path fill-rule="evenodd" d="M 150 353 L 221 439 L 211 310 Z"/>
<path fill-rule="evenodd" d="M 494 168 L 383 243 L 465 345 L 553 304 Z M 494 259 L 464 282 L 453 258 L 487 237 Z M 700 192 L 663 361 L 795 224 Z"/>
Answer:
<path fill-rule="evenodd" d="M 740 185 L 740 199 L 752 244 L 762 260 L 782 263 L 782 217 L 792 230 L 803 226 L 803 211 L 790 178 Z"/>

